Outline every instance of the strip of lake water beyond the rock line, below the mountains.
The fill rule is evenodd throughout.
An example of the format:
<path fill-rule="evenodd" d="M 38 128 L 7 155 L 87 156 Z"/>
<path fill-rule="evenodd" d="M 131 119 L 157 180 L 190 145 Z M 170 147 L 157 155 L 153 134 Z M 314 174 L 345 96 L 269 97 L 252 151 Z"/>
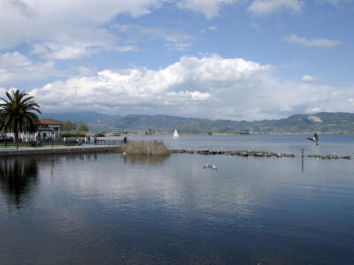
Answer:
<path fill-rule="evenodd" d="M 319 146 L 307 140 L 312 134 L 243 134 L 243 135 L 182 135 L 178 140 L 171 136 L 132 136 L 132 140 L 163 140 L 169 148 L 216 149 L 216 150 L 262 150 L 301 155 L 352 155 L 354 135 L 319 134 Z M 112 137 L 112 139 L 114 139 Z M 117 139 L 117 138 L 115 138 Z"/>

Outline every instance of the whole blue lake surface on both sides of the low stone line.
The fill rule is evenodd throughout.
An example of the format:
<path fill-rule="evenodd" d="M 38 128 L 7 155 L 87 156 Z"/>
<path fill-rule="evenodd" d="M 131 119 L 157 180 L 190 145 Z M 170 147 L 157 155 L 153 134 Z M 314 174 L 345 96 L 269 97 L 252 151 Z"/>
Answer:
<path fill-rule="evenodd" d="M 158 140 L 353 155 L 353 136 L 319 137 Z M 0 264 L 354 264 L 353 172 L 351 160 L 307 157 L 1 158 Z"/>

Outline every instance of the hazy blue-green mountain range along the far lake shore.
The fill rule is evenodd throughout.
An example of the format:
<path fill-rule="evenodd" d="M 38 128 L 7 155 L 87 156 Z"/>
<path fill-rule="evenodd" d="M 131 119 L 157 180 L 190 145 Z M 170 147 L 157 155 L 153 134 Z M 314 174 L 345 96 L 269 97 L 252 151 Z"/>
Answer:
<path fill-rule="evenodd" d="M 47 113 L 42 117 L 61 121 L 86 122 L 90 132 L 172 133 L 354 133 L 354 113 L 321 112 L 312 115 L 296 114 L 279 120 L 234 121 L 211 120 L 167 115 L 110 116 L 96 112 Z"/>

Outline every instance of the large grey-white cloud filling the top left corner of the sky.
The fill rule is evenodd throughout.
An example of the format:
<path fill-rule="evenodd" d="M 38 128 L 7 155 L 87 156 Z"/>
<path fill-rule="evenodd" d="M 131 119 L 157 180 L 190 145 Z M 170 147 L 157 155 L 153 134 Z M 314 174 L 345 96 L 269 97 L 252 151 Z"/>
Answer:
<path fill-rule="evenodd" d="M 34 44 L 33 54 L 55 59 L 111 48 L 117 37 L 102 27 L 113 16 L 142 16 L 164 0 L 13 0 L 0 2 L 0 49 Z M 97 13 L 99 11 L 99 14 Z M 11 26 L 11 27 L 9 27 Z"/>

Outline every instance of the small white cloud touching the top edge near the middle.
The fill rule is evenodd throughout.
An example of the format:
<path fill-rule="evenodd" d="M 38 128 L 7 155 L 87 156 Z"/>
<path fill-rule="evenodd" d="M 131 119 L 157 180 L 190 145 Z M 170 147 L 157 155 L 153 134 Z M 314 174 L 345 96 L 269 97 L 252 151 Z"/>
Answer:
<path fill-rule="evenodd" d="M 204 14 L 206 19 L 219 15 L 219 10 L 227 4 L 242 4 L 245 0 L 182 0 L 177 4 L 181 9 L 188 9 Z"/>

